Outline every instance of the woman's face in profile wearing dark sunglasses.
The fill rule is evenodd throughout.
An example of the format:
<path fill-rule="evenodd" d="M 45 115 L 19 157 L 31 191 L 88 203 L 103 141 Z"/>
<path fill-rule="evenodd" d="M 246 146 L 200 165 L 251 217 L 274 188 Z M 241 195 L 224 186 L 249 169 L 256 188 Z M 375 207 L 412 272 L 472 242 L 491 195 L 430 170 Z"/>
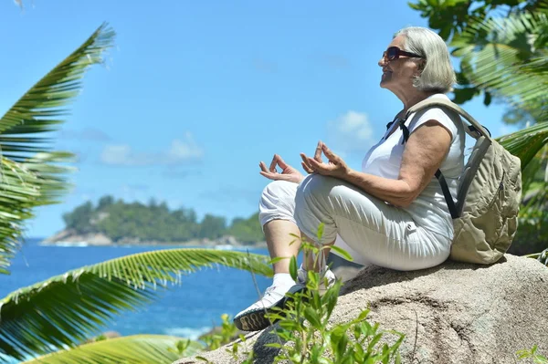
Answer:
<path fill-rule="evenodd" d="M 403 50 L 404 42 L 404 36 L 396 36 L 388 47 L 398 47 Z M 413 78 L 420 74 L 420 62 L 424 62 L 424 60 L 403 55 L 400 55 L 397 59 L 388 60 L 384 54 L 378 62 L 378 65 L 383 68 L 381 88 L 387 88 L 396 94 L 402 89 L 414 89 Z"/>

